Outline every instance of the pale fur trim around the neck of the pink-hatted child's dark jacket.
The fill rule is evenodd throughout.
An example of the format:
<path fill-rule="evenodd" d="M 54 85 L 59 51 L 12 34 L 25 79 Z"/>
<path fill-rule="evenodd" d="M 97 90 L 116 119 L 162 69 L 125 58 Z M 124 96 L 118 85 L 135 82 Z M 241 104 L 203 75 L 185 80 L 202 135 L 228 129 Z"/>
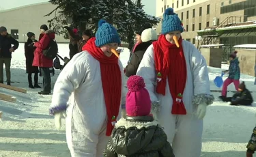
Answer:
<path fill-rule="evenodd" d="M 152 117 L 152 119 L 153 119 L 153 117 Z M 141 129 L 141 128 L 148 128 L 150 126 L 157 126 L 157 125 L 158 125 L 158 122 L 156 120 L 153 120 L 152 122 L 150 122 L 150 121 L 143 122 L 143 121 L 136 121 L 136 120 L 132 120 L 132 119 L 121 118 L 115 124 L 115 128 L 124 127 L 126 129 L 128 129 L 131 127 L 136 127 L 137 129 Z"/>

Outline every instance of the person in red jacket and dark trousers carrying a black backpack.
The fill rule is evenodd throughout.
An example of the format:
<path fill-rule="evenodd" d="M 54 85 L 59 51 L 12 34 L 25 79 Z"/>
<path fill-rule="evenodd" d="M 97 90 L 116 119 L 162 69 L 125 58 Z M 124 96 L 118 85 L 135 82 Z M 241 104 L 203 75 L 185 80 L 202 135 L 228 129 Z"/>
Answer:
<path fill-rule="evenodd" d="M 55 39 L 55 32 L 53 30 L 47 30 L 44 32 L 44 36 L 39 42 L 35 42 L 34 46 L 34 59 L 33 66 L 40 67 L 43 76 L 43 90 L 38 92 L 38 94 L 48 95 L 51 94 L 51 71 L 50 68 L 53 67 L 53 59 L 48 59 L 43 55 L 43 50 L 48 48 L 48 44 L 51 40 Z"/>

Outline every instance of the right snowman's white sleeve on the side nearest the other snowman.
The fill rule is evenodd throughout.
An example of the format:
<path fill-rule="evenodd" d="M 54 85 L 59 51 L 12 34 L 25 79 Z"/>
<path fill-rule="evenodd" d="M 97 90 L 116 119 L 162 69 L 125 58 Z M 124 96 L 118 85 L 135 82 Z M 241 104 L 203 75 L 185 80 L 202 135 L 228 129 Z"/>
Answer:
<path fill-rule="evenodd" d="M 154 49 L 153 44 L 151 44 L 145 54 L 143 59 L 139 64 L 137 70 L 137 75 L 142 76 L 145 81 L 146 89 L 150 93 L 151 102 L 158 102 L 158 98 L 155 94 L 155 85 L 156 85 L 156 70 L 155 70 L 155 61 L 154 61 Z"/>

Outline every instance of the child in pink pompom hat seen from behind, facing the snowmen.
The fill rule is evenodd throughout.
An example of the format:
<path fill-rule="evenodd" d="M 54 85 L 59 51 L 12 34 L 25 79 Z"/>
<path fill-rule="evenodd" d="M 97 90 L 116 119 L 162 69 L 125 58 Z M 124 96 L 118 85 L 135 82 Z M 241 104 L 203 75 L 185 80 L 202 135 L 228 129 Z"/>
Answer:
<path fill-rule="evenodd" d="M 143 78 L 130 76 L 127 87 L 126 118 L 115 124 L 104 156 L 174 157 L 167 134 L 150 114 L 150 94 L 145 89 Z"/>

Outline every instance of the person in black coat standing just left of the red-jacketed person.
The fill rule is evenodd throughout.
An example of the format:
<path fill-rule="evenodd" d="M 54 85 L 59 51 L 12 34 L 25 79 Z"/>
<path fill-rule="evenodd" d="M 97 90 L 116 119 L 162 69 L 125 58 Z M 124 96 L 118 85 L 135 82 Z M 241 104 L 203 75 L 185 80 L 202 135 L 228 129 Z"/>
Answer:
<path fill-rule="evenodd" d="M 27 33 L 27 42 L 25 42 L 25 57 L 26 57 L 26 71 L 27 71 L 27 79 L 29 81 L 29 88 L 41 88 L 38 85 L 38 67 L 32 66 L 33 63 L 33 52 L 35 51 L 35 47 L 33 46 L 34 42 L 38 42 L 35 40 L 35 34 L 32 32 Z M 32 74 L 34 74 L 34 85 L 32 83 Z"/>

